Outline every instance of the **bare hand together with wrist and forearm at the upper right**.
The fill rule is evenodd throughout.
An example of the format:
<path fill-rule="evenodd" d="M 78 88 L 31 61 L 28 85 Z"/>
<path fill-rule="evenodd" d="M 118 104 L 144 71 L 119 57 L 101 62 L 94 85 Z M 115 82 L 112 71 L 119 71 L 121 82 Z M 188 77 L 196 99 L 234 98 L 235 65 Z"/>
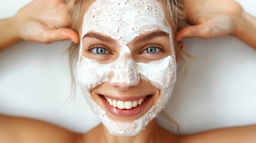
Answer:
<path fill-rule="evenodd" d="M 214 38 L 232 35 L 256 49 L 256 18 L 233 0 L 185 0 L 186 18 L 191 26 L 178 32 L 176 39 Z M 217 5 L 217 7 L 212 7 Z"/>

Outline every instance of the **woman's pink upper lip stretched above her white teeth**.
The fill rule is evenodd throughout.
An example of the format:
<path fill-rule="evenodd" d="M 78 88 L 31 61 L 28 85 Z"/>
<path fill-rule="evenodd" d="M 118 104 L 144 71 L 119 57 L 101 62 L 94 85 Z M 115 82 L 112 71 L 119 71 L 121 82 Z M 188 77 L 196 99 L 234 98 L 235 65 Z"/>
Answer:
<path fill-rule="evenodd" d="M 135 101 L 135 100 L 140 100 L 141 98 L 144 98 L 144 97 L 147 97 L 149 95 L 153 95 L 153 94 L 143 94 L 143 95 L 133 95 L 133 96 L 122 96 L 122 95 L 119 95 L 118 97 L 117 96 L 113 96 L 113 95 L 104 95 L 104 94 L 98 94 L 100 96 L 104 96 L 104 97 L 108 97 L 108 98 L 111 98 L 113 100 L 120 100 L 120 101 Z"/>

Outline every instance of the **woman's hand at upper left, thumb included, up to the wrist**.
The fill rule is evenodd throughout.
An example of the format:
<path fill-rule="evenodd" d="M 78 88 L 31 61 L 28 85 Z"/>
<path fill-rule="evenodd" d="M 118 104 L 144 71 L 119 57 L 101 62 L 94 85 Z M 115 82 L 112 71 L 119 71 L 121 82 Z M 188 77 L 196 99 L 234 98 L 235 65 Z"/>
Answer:
<path fill-rule="evenodd" d="M 43 43 L 79 42 L 78 33 L 68 29 L 71 21 L 64 0 L 32 1 L 18 11 L 13 20 L 20 39 Z"/>

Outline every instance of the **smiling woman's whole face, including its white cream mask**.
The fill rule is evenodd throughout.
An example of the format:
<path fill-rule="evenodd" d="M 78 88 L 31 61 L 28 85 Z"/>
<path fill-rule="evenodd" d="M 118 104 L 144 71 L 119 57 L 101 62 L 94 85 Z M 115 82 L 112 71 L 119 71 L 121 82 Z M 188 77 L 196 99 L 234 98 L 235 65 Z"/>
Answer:
<path fill-rule="evenodd" d="M 176 63 L 171 29 L 155 0 L 88 3 L 78 80 L 110 133 L 135 135 L 172 92 Z"/>

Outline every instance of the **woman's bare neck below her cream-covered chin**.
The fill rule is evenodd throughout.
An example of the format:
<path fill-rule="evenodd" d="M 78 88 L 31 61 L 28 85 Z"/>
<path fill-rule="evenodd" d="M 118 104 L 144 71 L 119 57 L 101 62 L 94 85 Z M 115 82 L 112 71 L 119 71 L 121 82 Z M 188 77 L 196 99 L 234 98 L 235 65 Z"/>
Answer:
<path fill-rule="evenodd" d="M 106 142 L 106 143 L 153 143 L 175 142 L 177 136 L 161 128 L 156 120 L 152 120 L 138 135 L 132 137 L 119 137 L 111 135 L 105 126 L 100 123 L 97 127 L 84 135 L 83 142 Z"/>

